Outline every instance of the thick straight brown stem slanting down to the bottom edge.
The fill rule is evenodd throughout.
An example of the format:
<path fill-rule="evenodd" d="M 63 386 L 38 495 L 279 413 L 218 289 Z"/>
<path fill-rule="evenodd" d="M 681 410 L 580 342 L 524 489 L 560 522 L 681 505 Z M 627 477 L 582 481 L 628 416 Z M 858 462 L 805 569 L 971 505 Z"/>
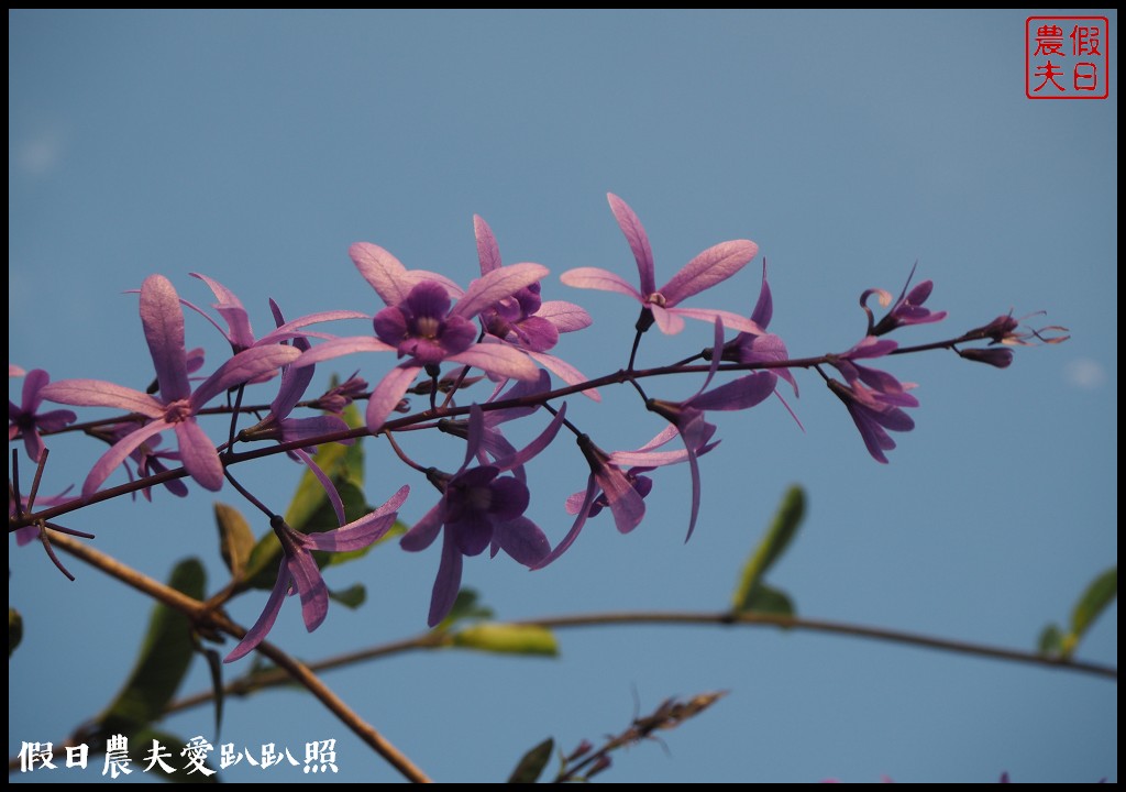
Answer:
<path fill-rule="evenodd" d="M 122 582 L 138 591 L 163 603 L 164 605 L 184 613 L 197 623 L 205 623 L 230 635 L 241 639 L 247 631 L 232 622 L 225 615 L 215 611 L 209 611 L 205 603 L 177 591 L 170 586 L 166 586 L 142 572 L 127 567 L 117 559 L 102 553 L 99 550 L 77 542 L 66 536 L 57 536 L 55 544 L 71 555 L 86 561 L 90 566 L 101 570 L 110 577 L 117 578 Z M 429 782 L 430 778 L 408 759 L 397 748 L 386 740 L 370 724 L 364 721 L 345 702 L 337 696 L 329 687 L 321 682 L 315 674 L 306 666 L 291 658 L 284 651 L 268 642 L 258 646 L 257 651 L 272 660 L 279 668 L 283 668 L 291 678 L 304 685 L 321 703 L 329 709 L 345 726 L 356 736 L 375 749 L 388 764 L 397 769 L 409 781 Z"/>

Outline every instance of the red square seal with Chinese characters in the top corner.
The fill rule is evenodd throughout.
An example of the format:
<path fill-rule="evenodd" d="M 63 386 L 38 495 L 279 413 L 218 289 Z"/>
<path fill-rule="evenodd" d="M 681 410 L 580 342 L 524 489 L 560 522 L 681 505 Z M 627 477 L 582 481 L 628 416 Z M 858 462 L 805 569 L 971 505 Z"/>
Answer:
<path fill-rule="evenodd" d="M 1106 17 L 1028 17 L 1025 96 L 1106 99 L 1110 96 L 1110 20 Z"/>

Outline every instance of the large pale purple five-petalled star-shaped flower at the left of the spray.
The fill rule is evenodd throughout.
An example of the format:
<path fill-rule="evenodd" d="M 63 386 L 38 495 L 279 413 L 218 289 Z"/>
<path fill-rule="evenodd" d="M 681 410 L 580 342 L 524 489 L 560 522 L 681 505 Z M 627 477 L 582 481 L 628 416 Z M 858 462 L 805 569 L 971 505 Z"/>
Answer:
<path fill-rule="evenodd" d="M 100 380 L 62 380 L 43 389 L 43 395 L 63 404 L 114 407 L 140 412 L 152 420 L 129 433 L 107 451 L 82 484 L 82 497 L 93 495 L 113 470 L 142 443 L 172 429 L 188 474 L 202 487 L 223 486 L 223 463 L 215 444 L 196 422 L 196 413 L 232 385 L 251 382 L 301 355 L 289 346 L 259 346 L 239 353 L 195 391 L 188 384 L 184 346 L 184 311 L 172 284 L 162 275 L 150 275 L 141 286 L 141 323 L 157 368 L 160 398 Z"/>

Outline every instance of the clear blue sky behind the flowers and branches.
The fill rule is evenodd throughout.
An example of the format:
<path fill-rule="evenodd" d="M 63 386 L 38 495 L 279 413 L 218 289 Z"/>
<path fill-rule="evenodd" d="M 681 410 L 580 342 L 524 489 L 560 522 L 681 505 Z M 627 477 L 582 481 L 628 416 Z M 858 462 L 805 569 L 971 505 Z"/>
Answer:
<path fill-rule="evenodd" d="M 1108 16 L 1117 41 L 1114 10 L 1067 14 Z M 148 275 L 199 303 L 208 293 L 187 274 L 211 275 L 256 327 L 269 324 L 267 297 L 294 315 L 374 313 L 382 303 L 349 244 L 375 242 L 466 283 L 481 214 L 506 262 L 544 264 L 545 293 L 593 315 L 558 350 L 601 374 L 625 364 L 633 304 L 557 275 L 600 266 L 634 277 L 607 192 L 644 222 L 659 283 L 706 247 L 754 240 L 760 257 L 696 304 L 749 312 L 765 256 L 771 330 L 795 356 L 851 346 L 864 332 L 860 292 L 897 294 L 918 261 L 917 277 L 935 282 L 928 305 L 949 317 L 901 341 L 1010 310 L 1046 311 L 1034 323 L 1065 324 L 1072 339 L 1018 350 L 1006 371 L 949 354 L 895 359 L 887 367 L 919 383 L 921 407 L 886 466 L 820 380 L 799 373 L 804 433 L 774 402 L 716 421 L 723 443 L 701 460 L 690 543 L 687 471 L 670 469 L 633 534 L 604 516 L 546 570 L 477 558 L 464 584 L 502 619 L 718 609 L 781 493 L 801 482 L 808 516 L 771 572 L 799 614 L 1030 649 L 1117 564 L 1118 168 L 1116 51 L 1108 99 L 1029 100 L 1027 16 L 9 11 L 9 361 L 143 385 L 151 363 L 136 300 L 122 292 Z M 189 319 L 188 333 L 220 354 L 204 322 Z M 650 333 L 642 361 L 697 351 L 708 333 Z M 377 379 L 383 361 L 366 357 L 340 373 Z M 669 383 L 669 397 L 696 388 Z M 569 403 L 604 447 L 636 447 L 661 428 L 631 393 L 606 397 Z M 47 491 L 93 461 L 82 444 L 60 446 L 73 453 L 52 456 Z M 413 451 L 458 463 L 448 444 Z M 569 444 L 537 462 L 531 516 L 557 540 L 570 525 L 562 500 L 586 472 Z M 368 470 L 370 501 L 410 483 L 404 518 L 432 505 L 425 480 L 381 444 L 368 444 Z M 280 508 L 296 477 L 276 462 L 247 483 Z M 230 489 L 218 499 L 240 505 Z M 160 495 L 69 524 L 154 577 L 198 555 L 214 590 L 212 500 Z M 15 755 L 105 705 L 149 603 L 78 562 L 68 584 L 42 553 L 11 546 L 9 598 L 27 623 L 9 661 Z M 387 548 L 338 568 L 330 586 L 361 580 L 368 603 L 333 607 L 312 635 L 287 607 L 271 638 L 312 659 L 414 634 L 437 563 L 436 548 Z M 231 613 L 249 623 L 261 605 L 249 595 Z M 628 724 L 635 696 L 644 712 L 716 689 L 730 694 L 667 733 L 668 751 L 619 753 L 604 778 L 1117 780 L 1117 691 L 1105 679 L 801 632 L 600 628 L 560 639 L 555 660 L 408 655 L 327 682 L 443 781 L 502 778 L 548 736 L 565 749 L 597 741 Z M 1117 665 L 1117 606 L 1080 656 Z M 196 668 L 185 692 L 206 684 Z M 209 735 L 211 719 L 195 710 L 167 727 Z M 396 780 L 294 691 L 231 702 L 223 730 L 223 741 L 295 753 L 329 738 L 339 740 L 331 781 Z M 235 768 L 229 780 L 263 777 Z"/>

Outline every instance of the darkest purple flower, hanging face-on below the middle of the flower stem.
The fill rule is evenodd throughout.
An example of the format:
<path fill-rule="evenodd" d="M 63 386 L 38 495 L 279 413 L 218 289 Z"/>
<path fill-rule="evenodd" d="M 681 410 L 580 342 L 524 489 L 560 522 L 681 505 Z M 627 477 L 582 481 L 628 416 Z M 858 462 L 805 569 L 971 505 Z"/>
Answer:
<path fill-rule="evenodd" d="M 470 408 L 465 461 L 453 475 L 430 469 L 430 481 L 441 490 L 441 499 L 403 536 L 403 550 L 429 548 L 443 532 L 441 561 L 430 598 L 427 624 L 435 626 L 449 613 L 462 585 L 462 557 L 480 555 L 492 546 L 491 555 L 503 550 L 519 563 L 535 568 L 551 551 L 551 543 L 535 523 L 524 516 L 528 488 L 513 475 L 502 475 L 525 464 L 547 447 L 563 425 L 564 404 L 547 428 L 522 451 L 494 464 L 470 468 L 484 434 L 484 413 Z"/>

